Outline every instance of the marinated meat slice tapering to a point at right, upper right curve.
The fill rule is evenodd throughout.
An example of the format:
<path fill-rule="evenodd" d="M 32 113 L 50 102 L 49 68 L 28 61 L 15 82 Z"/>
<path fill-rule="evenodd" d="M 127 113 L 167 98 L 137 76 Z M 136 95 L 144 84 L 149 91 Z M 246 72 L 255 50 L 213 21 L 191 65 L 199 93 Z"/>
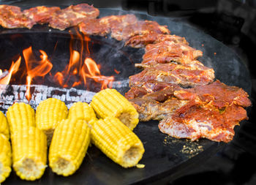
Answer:
<path fill-rule="evenodd" d="M 162 41 L 157 44 L 146 45 L 142 64 L 154 65 L 156 63 L 170 63 L 176 61 L 179 64 L 189 64 L 195 61 L 203 52 L 189 47 L 183 43 Z"/>

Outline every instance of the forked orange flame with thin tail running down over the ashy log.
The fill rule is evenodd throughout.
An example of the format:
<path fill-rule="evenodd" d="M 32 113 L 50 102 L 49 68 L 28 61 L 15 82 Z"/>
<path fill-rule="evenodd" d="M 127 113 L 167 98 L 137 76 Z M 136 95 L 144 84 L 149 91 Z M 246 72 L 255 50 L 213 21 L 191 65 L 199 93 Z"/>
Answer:
<path fill-rule="evenodd" d="M 48 55 L 43 50 L 39 50 L 41 53 L 41 60 L 37 60 L 32 52 L 32 48 L 26 48 L 23 50 L 23 57 L 26 63 L 27 77 L 26 77 L 26 98 L 31 99 L 30 86 L 33 78 L 35 77 L 44 77 L 50 69 L 52 69 L 53 64 L 48 60 Z M 35 67 L 34 67 L 35 66 Z"/>

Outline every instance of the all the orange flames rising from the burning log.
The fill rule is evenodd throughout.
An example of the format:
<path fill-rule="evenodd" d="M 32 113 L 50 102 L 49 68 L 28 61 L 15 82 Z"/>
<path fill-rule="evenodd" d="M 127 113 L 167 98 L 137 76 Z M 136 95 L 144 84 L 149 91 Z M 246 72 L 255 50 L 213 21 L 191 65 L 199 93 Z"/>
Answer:
<path fill-rule="evenodd" d="M 50 62 L 47 53 L 44 50 L 39 50 L 40 56 L 38 57 L 35 54 L 36 52 L 33 52 L 32 47 L 29 47 L 23 50 L 22 56 L 24 60 L 22 56 L 19 56 L 17 61 L 12 61 L 9 70 L 0 69 L 0 84 L 9 84 L 12 76 L 20 69 L 20 72 L 23 72 L 23 75 L 25 75 L 20 75 L 20 79 L 23 79 L 23 77 L 25 79 L 26 77 L 26 99 L 28 100 L 31 99 L 31 84 L 35 81 L 35 78 L 41 77 L 43 80 L 45 75 L 48 75 L 47 79 L 64 88 L 75 86 L 89 87 L 93 81 L 99 84 L 101 89 L 111 88 L 114 77 L 102 75 L 100 65 L 90 57 L 90 38 L 80 34 L 78 31 L 76 35 L 80 41 L 80 48 L 79 50 L 74 49 L 74 36 L 71 34 L 69 63 L 61 72 L 52 74 L 50 71 L 53 68 L 53 64 Z M 54 50 L 56 50 L 56 46 Z M 25 61 L 26 70 L 20 68 L 21 61 Z M 116 69 L 113 69 L 113 72 L 119 73 Z"/>

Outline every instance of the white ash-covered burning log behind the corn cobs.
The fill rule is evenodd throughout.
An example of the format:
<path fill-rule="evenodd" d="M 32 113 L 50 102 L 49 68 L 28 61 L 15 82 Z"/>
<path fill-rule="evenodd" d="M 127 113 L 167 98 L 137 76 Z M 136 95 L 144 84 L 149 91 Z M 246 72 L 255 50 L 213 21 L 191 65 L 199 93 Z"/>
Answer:
<path fill-rule="evenodd" d="M 112 88 L 125 88 L 129 86 L 129 79 L 114 81 Z M 57 88 L 43 85 L 31 85 L 31 99 L 26 99 L 26 85 L 1 85 L 0 84 L 0 110 L 6 113 L 8 107 L 15 102 L 24 102 L 34 109 L 39 102 L 50 97 L 60 99 L 67 107 L 71 107 L 74 102 L 90 103 L 96 92 L 81 90 L 77 88 Z"/>

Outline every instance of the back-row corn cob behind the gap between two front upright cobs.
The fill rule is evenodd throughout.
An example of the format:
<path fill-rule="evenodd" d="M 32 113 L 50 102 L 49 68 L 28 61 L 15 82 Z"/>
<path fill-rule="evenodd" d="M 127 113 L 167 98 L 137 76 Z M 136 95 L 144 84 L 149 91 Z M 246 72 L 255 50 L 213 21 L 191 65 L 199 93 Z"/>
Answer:
<path fill-rule="evenodd" d="M 56 98 L 48 98 L 39 103 L 36 111 L 37 128 L 45 132 L 48 144 L 53 137 L 56 126 L 62 119 L 67 118 L 67 106 Z"/>

